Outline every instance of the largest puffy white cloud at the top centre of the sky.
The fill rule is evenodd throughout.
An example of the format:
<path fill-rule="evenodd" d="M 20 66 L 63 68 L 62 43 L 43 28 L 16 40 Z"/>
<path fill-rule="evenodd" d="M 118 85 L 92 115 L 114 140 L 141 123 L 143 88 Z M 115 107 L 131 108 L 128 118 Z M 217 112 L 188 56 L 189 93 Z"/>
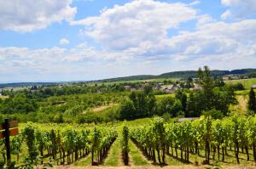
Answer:
<path fill-rule="evenodd" d="M 71 24 L 85 25 L 84 34 L 104 48 L 127 50 L 145 42 L 158 43 L 166 39 L 169 29 L 177 29 L 178 25 L 195 17 L 196 10 L 189 4 L 135 0 Z"/>

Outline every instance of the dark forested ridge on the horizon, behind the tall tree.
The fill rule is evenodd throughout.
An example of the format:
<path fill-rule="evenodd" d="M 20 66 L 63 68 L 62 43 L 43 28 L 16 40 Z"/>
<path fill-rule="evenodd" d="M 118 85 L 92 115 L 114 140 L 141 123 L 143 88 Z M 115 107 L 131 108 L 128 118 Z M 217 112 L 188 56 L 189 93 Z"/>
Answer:
<path fill-rule="evenodd" d="M 256 69 L 241 69 L 241 70 L 211 70 L 212 76 L 225 76 L 225 75 L 250 75 L 256 73 Z M 96 82 L 120 82 L 120 81 L 136 81 L 146 79 L 159 79 L 159 78 L 188 78 L 196 77 L 197 70 L 183 70 L 172 71 L 158 76 L 154 75 L 139 75 L 139 76 L 125 76 L 110 79 L 103 79 Z"/>

